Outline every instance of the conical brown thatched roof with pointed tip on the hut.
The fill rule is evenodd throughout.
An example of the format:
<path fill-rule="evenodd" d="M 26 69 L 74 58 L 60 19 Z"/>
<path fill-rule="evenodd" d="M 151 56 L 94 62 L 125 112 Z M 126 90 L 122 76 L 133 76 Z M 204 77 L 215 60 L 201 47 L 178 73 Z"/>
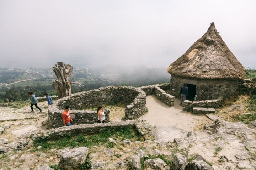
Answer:
<path fill-rule="evenodd" d="M 183 78 L 243 79 L 245 69 L 226 46 L 214 23 L 185 54 L 173 62 L 167 72 Z"/>

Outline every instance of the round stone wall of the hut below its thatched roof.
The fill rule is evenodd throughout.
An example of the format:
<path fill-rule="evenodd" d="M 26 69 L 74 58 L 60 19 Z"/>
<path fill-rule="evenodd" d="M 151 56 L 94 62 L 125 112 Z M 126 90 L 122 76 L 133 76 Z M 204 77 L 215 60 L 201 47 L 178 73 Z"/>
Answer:
<path fill-rule="evenodd" d="M 170 94 L 180 98 L 179 92 L 183 83 L 196 85 L 197 100 L 229 98 L 238 91 L 239 86 L 239 80 L 192 80 L 172 76 Z"/>

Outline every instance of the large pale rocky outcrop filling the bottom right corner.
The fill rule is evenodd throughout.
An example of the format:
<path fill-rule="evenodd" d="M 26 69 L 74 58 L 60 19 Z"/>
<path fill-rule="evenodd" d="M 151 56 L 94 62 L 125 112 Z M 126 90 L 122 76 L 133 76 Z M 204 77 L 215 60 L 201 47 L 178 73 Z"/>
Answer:
<path fill-rule="evenodd" d="M 255 129 L 242 122 L 224 120 L 215 120 L 205 125 L 204 129 L 189 132 L 187 137 L 175 138 L 174 142 L 180 149 L 189 146 L 188 154 L 200 153 L 205 160 L 215 163 L 214 167 L 218 170 L 256 168 Z M 201 161 L 191 162 L 189 166 L 199 169 L 202 164 L 206 167 Z"/>

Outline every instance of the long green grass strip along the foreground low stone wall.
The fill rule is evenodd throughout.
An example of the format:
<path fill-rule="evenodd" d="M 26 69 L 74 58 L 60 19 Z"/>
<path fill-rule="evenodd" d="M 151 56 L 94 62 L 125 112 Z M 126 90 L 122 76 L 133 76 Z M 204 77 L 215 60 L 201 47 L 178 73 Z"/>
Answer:
<path fill-rule="evenodd" d="M 120 130 L 115 129 L 106 129 L 96 135 L 87 135 L 78 134 L 76 136 L 67 136 L 60 138 L 58 140 L 41 140 L 37 139 L 34 142 L 34 147 L 42 146 L 41 150 L 47 152 L 50 149 L 63 149 L 67 146 L 71 147 L 82 147 L 86 146 L 92 148 L 99 145 L 107 145 L 107 147 L 114 147 L 114 145 L 108 142 L 109 138 L 114 140 L 122 141 L 124 139 L 129 139 L 131 141 L 141 141 L 138 131 L 135 129 L 125 126 Z"/>

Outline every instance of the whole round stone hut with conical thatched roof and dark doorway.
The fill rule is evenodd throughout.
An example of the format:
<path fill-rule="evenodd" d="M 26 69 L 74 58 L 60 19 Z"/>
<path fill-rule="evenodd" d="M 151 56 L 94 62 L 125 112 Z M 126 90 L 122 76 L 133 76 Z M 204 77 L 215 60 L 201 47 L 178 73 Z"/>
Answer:
<path fill-rule="evenodd" d="M 207 32 L 173 62 L 167 72 L 171 74 L 170 94 L 180 98 L 179 90 L 187 84 L 187 100 L 229 98 L 238 90 L 245 69 L 220 37 L 214 23 Z"/>

